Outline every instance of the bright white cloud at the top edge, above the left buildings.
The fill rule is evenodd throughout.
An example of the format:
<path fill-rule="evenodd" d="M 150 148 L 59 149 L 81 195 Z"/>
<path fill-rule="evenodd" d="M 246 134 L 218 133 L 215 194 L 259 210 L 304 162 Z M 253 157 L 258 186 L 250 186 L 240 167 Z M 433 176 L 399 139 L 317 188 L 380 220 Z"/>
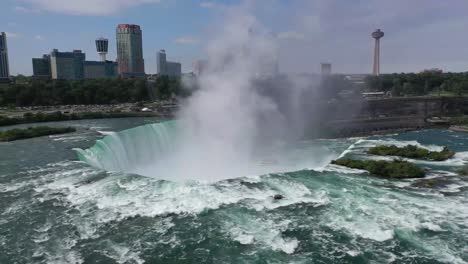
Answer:
<path fill-rule="evenodd" d="M 69 15 L 107 16 L 126 8 L 142 4 L 159 3 L 160 0 L 24 0 L 34 10 Z"/>

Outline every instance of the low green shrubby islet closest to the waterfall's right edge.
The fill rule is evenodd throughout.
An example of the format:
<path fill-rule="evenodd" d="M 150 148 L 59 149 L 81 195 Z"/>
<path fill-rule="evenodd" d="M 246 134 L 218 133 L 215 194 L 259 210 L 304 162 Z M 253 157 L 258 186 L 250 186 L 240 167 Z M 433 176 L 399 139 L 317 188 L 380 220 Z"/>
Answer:
<path fill-rule="evenodd" d="M 426 174 L 420 167 L 402 160 L 353 160 L 342 158 L 333 160 L 331 163 L 352 169 L 366 170 L 371 174 L 385 178 L 423 178 Z"/>

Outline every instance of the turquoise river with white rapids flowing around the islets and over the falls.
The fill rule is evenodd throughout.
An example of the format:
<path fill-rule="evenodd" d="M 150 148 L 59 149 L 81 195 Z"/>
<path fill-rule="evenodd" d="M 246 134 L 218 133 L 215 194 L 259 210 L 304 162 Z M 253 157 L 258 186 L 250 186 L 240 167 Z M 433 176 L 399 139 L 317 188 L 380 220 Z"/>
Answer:
<path fill-rule="evenodd" d="M 143 169 L 171 149 L 171 128 L 155 121 L 52 123 L 78 132 L 1 143 L 0 263 L 468 262 L 468 177 L 454 173 L 468 165 L 468 134 L 303 141 L 210 183 Z M 414 161 L 430 181 L 327 165 L 377 158 L 365 154 L 376 144 L 457 154 Z"/>

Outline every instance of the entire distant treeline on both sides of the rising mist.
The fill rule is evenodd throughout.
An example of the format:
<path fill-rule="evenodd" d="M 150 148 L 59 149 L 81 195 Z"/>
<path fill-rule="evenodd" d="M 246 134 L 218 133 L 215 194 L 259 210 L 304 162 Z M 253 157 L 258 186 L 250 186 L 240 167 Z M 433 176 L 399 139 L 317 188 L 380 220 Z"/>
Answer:
<path fill-rule="evenodd" d="M 33 80 L 17 77 L 16 83 L 0 84 L 0 106 L 35 106 L 65 104 L 115 104 L 140 102 L 152 99 L 166 100 L 172 96 L 188 96 L 197 89 L 196 81 L 191 89 L 182 85 L 180 78 L 162 76 L 156 81 L 143 79 L 97 80 Z M 288 87 L 287 78 L 267 80 L 268 87 Z M 364 90 L 385 91 L 393 96 L 468 94 L 468 73 L 395 73 L 368 76 L 363 85 L 356 85 L 345 75 L 331 75 L 322 79 L 321 95 L 336 97 L 340 91 L 360 94 Z M 323 94 L 325 93 L 325 94 Z"/>

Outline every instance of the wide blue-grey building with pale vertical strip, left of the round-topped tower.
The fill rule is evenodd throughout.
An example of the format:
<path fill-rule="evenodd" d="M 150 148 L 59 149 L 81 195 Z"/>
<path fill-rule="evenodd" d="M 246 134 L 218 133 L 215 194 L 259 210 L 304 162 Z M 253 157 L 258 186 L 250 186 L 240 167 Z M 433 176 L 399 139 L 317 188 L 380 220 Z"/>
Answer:
<path fill-rule="evenodd" d="M 81 80 L 84 78 L 84 62 L 86 55 L 81 50 L 59 52 L 54 49 L 50 53 L 50 69 L 52 79 Z"/>

